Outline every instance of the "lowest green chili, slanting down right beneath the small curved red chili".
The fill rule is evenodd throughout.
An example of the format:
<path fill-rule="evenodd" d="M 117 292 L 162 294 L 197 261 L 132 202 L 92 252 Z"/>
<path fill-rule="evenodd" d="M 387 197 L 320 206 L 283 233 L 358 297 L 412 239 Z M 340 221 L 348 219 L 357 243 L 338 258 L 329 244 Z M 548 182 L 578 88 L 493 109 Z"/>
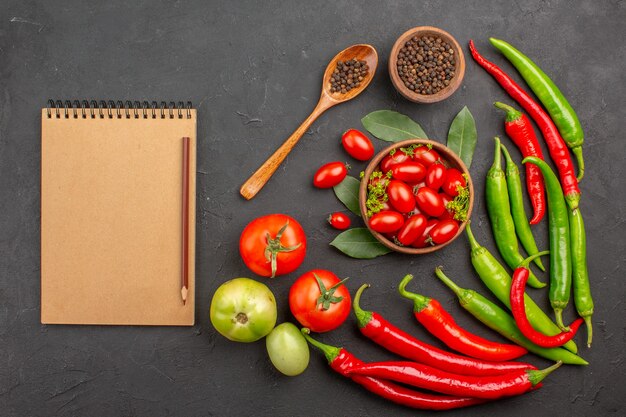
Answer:
<path fill-rule="evenodd" d="M 467 310 L 480 322 L 512 342 L 525 347 L 543 358 L 553 361 L 563 361 L 570 365 L 588 365 L 588 362 L 580 356 L 562 348 L 543 348 L 535 345 L 517 328 L 515 320 L 506 311 L 473 290 L 460 288 L 448 278 L 441 267 L 435 269 L 437 277 L 443 281 L 459 298 L 461 307 Z"/>

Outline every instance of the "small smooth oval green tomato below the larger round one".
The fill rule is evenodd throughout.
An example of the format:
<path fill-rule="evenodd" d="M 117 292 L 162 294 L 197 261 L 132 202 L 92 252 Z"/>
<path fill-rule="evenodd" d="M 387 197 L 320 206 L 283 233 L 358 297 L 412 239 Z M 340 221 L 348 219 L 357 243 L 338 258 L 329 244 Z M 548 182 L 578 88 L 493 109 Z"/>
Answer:
<path fill-rule="evenodd" d="M 287 376 L 300 375 L 309 366 L 309 345 L 291 323 L 279 324 L 265 339 L 270 360 Z"/>

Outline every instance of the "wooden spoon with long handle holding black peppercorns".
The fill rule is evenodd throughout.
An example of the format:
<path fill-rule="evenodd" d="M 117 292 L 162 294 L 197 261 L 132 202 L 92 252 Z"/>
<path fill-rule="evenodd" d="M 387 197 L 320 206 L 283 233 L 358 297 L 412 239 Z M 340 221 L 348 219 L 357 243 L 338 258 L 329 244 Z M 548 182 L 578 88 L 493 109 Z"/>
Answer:
<path fill-rule="evenodd" d="M 337 68 L 337 61 L 347 61 L 350 59 L 359 59 L 363 60 L 367 63 L 369 70 L 367 77 L 361 81 L 361 85 L 359 87 L 353 88 L 345 94 L 341 93 L 331 93 L 330 92 L 330 76 L 332 72 Z M 317 106 L 313 109 L 313 112 L 306 118 L 304 122 L 296 129 L 295 132 L 283 143 L 280 148 L 276 149 L 276 152 L 272 154 L 268 158 L 267 161 L 263 163 L 256 170 L 254 174 L 241 186 L 239 192 L 246 199 L 250 200 L 254 197 L 260 190 L 263 188 L 265 183 L 269 181 L 270 177 L 278 166 L 283 162 L 283 160 L 287 157 L 291 149 L 298 143 L 298 140 L 302 137 L 304 132 L 307 131 L 309 126 L 326 110 L 330 109 L 337 104 L 346 102 L 348 100 L 352 100 L 354 97 L 358 96 L 367 86 L 369 85 L 372 78 L 374 78 L 374 73 L 376 72 L 376 65 L 378 64 L 378 54 L 376 50 L 371 45 L 353 45 L 349 48 L 344 49 L 339 52 L 333 59 L 330 61 L 328 66 L 326 67 L 326 71 L 324 71 L 324 78 L 322 80 L 322 94 L 320 95 L 320 99 L 317 102 Z"/>

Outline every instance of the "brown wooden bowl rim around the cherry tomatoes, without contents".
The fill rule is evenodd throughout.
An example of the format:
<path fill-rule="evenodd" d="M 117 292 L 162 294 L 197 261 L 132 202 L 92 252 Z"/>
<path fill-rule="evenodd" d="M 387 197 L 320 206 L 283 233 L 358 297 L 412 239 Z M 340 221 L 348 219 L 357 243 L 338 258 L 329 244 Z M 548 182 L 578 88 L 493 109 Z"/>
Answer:
<path fill-rule="evenodd" d="M 467 178 L 468 178 L 467 184 L 469 186 L 469 192 L 470 192 L 470 197 L 469 197 L 470 201 L 469 201 L 469 209 L 467 211 L 467 220 L 465 220 L 459 225 L 459 231 L 456 233 L 456 235 L 454 235 L 452 239 L 450 239 L 446 243 L 442 243 L 441 245 L 427 246 L 425 248 L 413 248 L 409 246 L 399 246 L 399 245 L 396 245 L 394 242 L 390 241 L 389 239 L 387 239 L 382 234 L 373 231 L 369 226 L 369 219 L 367 217 L 367 207 L 365 206 L 365 202 L 367 200 L 367 184 L 369 182 L 370 175 L 372 175 L 372 172 L 374 172 L 374 170 L 378 167 L 378 165 L 383 160 L 383 158 L 389 155 L 390 151 L 392 151 L 393 149 L 406 148 L 407 146 L 410 146 L 413 144 L 422 144 L 425 146 L 431 145 L 432 148 L 436 150 L 437 153 L 441 156 L 441 159 L 443 160 L 443 163 L 446 167 L 456 168 L 462 173 L 467 174 Z M 461 161 L 461 159 L 454 152 L 452 152 L 447 146 L 444 146 L 439 142 L 434 142 L 428 139 L 409 139 L 409 140 L 405 140 L 402 142 L 396 142 L 393 145 L 388 146 L 387 148 L 379 152 L 370 161 L 369 165 L 365 169 L 365 173 L 363 175 L 363 178 L 361 179 L 361 186 L 359 187 L 359 207 L 361 208 L 361 216 L 363 217 L 363 221 L 365 222 L 365 225 L 367 226 L 369 231 L 372 233 L 372 235 L 374 235 L 374 237 L 380 243 L 382 243 L 389 249 L 396 251 L 396 252 L 420 255 L 424 253 L 434 252 L 436 250 L 439 250 L 449 245 L 456 238 L 458 238 L 461 233 L 463 233 L 463 231 L 465 230 L 465 225 L 467 225 L 467 222 L 470 216 L 472 215 L 472 208 L 474 207 L 474 184 L 472 184 L 472 178 L 469 175 L 469 170 L 467 169 L 463 161 Z"/>

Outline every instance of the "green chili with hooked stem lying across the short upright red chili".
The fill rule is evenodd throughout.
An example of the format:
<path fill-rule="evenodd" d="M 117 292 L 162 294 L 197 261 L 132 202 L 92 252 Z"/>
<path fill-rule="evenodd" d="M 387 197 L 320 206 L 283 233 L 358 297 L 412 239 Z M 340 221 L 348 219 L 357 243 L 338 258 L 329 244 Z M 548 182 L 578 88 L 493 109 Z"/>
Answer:
<path fill-rule="evenodd" d="M 567 307 L 572 290 L 572 256 L 567 205 L 559 179 L 543 160 L 528 156 L 522 163 L 535 164 L 541 170 L 546 184 L 548 200 L 548 229 L 550 231 L 550 305 L 554 309 L 556 324 L 565 330 L 563 309 Z"/>

